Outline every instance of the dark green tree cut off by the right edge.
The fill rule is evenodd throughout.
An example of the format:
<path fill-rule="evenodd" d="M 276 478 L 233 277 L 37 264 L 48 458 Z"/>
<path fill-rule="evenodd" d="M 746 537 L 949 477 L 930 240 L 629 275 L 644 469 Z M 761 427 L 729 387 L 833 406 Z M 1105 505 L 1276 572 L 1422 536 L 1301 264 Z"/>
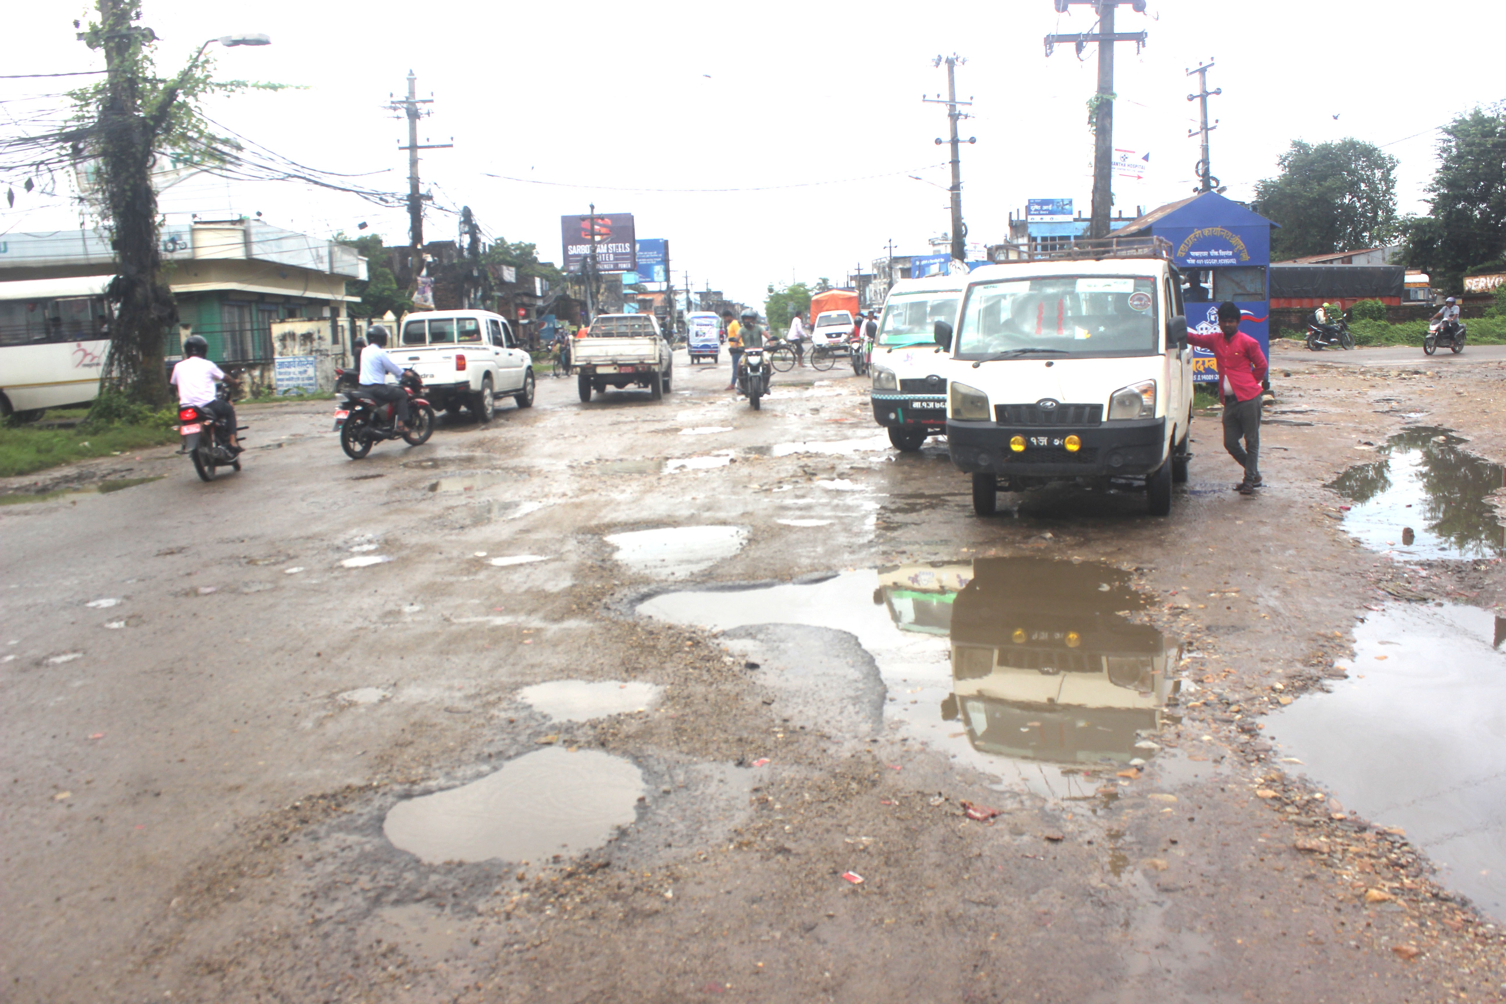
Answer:
<path fill-rule="evenodd" d="M 1480 108 L 1443 126 L 1429 214 L 1407 220 L 1407 263 L 1461 292 L 1474 265 L 1506 257 L 1506 114 Z"/>

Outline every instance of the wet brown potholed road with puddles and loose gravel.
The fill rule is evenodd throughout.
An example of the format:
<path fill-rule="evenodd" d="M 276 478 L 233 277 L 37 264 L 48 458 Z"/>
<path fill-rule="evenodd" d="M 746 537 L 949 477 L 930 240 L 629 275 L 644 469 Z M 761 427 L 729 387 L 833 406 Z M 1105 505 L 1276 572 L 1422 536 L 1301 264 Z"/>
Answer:
<path fill-rule="evenodd" d="M 1363 357 L 1276 352 L 1256 498 L 1199 414 L 1166 519 L 979 519 L 864 382 L 685 360 L 5 506 L 6 999 L 1500 999 L 1489 884 L 1387 816 L 1428 757 L 1283 718 L 1370 683 L 1364 619 L 1501 601 L 1498 482 L 1413 543 L 1340 488 L 1408 429 L 1506 458 L 1503 364 Z"/>

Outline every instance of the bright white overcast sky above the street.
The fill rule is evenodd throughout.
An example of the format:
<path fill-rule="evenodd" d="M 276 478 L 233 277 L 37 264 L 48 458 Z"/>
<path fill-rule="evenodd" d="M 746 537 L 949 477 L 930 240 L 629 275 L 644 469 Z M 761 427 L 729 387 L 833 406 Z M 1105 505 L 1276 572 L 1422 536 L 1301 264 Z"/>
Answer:
<path fill-rule="evenodd" d="M 1093 47 L 1047 59 L 1042 38 L 1084 32 L 1090 8 L 1057 15 L 1051 0 L 991 3 L 361 5 L 262 0 L 256 5 L 145 0 L 161 42 L 158 68 L 181 66 L 205 38 L 264 32 L 268 48 L 214 47 L 218 74 L 304 90 L 217 99 L 211 114 L 304 164 L 383 172 L 363 184 L 407 190 L 405 123 L 386 110 L 419 77 L 434 114 L 420 141 L 425 187 L 440 206 L 426 238 L 453 238 L 470 205 L 486 233 L 532 241 L 560 260 L 562 214 L 633 212 L 640 238 L 670 241 L 675 281 L 762 301 L 768 283 L 830 277 L 857 262 L 928 253 L 949 226 L 941 105 L 931 60 L 959 53 L 959 96 L 976 104 L 962 135 L 962 211 L 970 241 L 1005 238 L 1026 199 L 1092 194 L 1086 101 Z M 101 68 L 74 39 L 83 5 L 8 12 L 6 74 Z M 1151 154 L 1149 178 L 1119 181 L 1116 208 L 1134 214 L 1193 191 L 1196 77 L 1214 59 L 1214 173 L 1250 199 L 1291 140 L 1357 137 L 1399 161 L 1402 212 L 1425 209 L 1435 126 L 1506 98 L 1500 39 L 1506 5 L 1458 0 L 1151 0 L 1119 9 L 1120 32 L 1149 32 L 1136 54 L 1117 47 L 1114 145 Z M 62 90 L 69 80 L 0 80 L 0 110 Z M 8 132 L 14 125 L 3 126 Z M 488 175 L 529 181 L 503 181 Z M 913 181 L 919 175 L 926 181 Z M 813 184 L 816 182 L 816 184 Z M 932 182 L 932 184 L 926 184 Z M 801 185 L 801 187 L 794 187 Z M 940 185 L 940 187 L 935 187 Z M 614 191 L 616 190 L 616 191 Z M 661 190 L 661 191 L 646 191 Z M 733 191 L 673 191 L 733 190 Z M 169 220 L 255 214 L 321 236 L 367 221 L 389 244 L 407 241 L 402 209 L 291 184 L 199 178 L 163 196 Z M 66 197 L 17 191 L 0 203 L 0 233 L 77 227 Z M 0 236 L 3 239 L 3 236 Z"/>

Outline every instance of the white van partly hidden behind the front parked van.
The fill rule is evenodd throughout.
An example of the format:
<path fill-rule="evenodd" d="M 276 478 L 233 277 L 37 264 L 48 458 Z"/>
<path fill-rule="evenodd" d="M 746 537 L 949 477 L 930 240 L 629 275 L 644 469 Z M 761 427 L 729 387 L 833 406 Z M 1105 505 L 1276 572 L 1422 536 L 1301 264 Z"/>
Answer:
<path fill-rule="evenodd" d="M 873 421 L 889 429 L 895 449 L 914 452 L 926 437 L 946 434 L 946 372 L 950 357 L 937 345 L 937 325 L 950 333 L 968 275 L 902 278 L 889 291 L 869 358 Z"/>

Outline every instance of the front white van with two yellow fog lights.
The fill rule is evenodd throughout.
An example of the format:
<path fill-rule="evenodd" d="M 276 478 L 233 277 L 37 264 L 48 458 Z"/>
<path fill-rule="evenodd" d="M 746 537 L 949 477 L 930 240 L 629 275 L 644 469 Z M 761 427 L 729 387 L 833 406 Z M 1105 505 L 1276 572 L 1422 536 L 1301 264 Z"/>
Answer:
<path fill-rule="evenodd" d="M 980 516 L 998 491 L 1059 480 L 1143 488 L 1152 515 L 1172 510 L 1193 420 L 1179 278 L 1158 238 L 968 275 L 956 334 L 941 342 L 947 447 Z"/>

